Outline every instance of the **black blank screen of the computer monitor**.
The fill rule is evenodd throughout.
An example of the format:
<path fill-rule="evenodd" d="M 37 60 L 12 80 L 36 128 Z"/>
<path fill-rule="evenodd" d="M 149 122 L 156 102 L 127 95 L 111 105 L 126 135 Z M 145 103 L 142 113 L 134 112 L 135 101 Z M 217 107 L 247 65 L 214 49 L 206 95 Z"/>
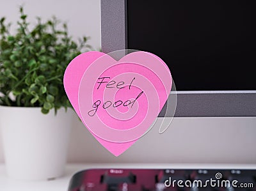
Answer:
<path fill-rule="evenodd" d="M 255 90 L 253 1 L 127 0 L 127 48 L 152 52 L 176 88 Z"/>

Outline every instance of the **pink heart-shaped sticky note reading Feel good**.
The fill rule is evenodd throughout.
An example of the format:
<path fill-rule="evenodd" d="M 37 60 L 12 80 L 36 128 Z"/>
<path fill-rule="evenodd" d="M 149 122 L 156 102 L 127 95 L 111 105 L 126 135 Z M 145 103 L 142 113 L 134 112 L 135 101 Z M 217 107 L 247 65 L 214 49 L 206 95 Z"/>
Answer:
<path fill-rule="evenodd" d="M 70 62 L 64 87 L 84 125 L 118 156 L 150 130 L 170 94 L 172 75 L 149 52 L 132 52 L 116 61 L 93 51 Z"/>

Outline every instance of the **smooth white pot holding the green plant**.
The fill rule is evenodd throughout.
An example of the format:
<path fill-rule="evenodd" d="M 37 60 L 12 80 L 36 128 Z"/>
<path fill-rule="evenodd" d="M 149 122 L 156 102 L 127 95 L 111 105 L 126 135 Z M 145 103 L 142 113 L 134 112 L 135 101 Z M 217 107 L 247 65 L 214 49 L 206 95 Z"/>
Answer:
<path fill-rule="evenodd" d="M 42 114 L 38 107 L 0 106 L 7 174 L 17 180 L 47 180 L 63 175 L 72 110 Z"/>

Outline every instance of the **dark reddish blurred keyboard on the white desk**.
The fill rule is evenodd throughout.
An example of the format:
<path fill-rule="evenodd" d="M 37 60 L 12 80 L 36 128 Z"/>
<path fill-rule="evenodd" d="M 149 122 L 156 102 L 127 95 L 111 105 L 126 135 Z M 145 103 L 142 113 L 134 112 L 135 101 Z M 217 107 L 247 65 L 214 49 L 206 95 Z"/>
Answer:
<path fill-rule="evenodd" d="M 88 169 L 77 172 L 68 191 L 256 191 L 256 170 Z"/>

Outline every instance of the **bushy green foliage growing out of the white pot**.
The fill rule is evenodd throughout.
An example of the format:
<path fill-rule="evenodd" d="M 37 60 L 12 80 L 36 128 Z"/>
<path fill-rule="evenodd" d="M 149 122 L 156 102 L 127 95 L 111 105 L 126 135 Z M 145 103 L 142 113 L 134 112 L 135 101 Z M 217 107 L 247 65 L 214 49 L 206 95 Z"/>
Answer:
<path fill-rule="evenodd" d="M 44 114 L 71 107 L 63 74 L 81 50 L 90 50 L 87 38 L 74 42 L 68 36 L 67 24 L 54 17 L 45 22 L 38 18 L 32 27 L 27 17 L 21 6 L 15 34 L 9 33 L 5 18 L 0 19 L 0 104 L 42 107 Z"/>

